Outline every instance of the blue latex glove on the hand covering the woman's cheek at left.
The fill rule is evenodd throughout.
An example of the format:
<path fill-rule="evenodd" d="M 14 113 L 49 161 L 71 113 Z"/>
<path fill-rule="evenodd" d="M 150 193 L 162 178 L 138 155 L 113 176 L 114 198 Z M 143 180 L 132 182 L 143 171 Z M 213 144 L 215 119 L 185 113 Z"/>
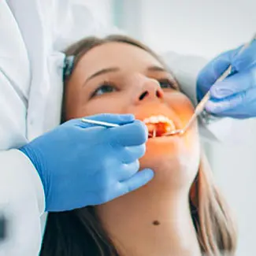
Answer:
<path fill-rule="evenodd" d="M 99 114 L 92 120 L 123 124 L 102 128 L 79 119 L 20 148 L 43 182 L 46 211 L 97 205 L 147 184 L 154 173 L 138 173 L 147 127 L 133 115 Z"/>

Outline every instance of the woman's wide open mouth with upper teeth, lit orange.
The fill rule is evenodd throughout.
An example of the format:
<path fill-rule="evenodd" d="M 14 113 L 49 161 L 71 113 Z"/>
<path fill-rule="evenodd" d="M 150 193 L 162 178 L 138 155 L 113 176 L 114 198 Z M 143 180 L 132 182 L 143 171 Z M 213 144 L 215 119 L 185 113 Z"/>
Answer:
<path fill-rule="evenodd" d="M 168 117 L 158 115 L 143 120 L 148 128 L 148 138 L 161 137 L 165 132 L 176 130 L 176 126 Z"/>

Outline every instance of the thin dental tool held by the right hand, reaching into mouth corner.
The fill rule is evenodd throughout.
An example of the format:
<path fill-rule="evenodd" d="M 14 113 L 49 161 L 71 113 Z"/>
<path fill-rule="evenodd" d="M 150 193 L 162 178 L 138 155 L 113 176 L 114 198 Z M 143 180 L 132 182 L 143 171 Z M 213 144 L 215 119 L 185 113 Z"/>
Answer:
<path fill-rule="evenodd" d="M 245 50 L 248 46 L 250 46 L 250 44 L 254 42 L 254 39 L 256 39 L 256 34 L 254 34 L 254 37 L 252 39 L 250 39 L 250 41 L 248 43 L 243 45 L 243 47 L 239 50 L 237 55 L 241 54 L 243 52 L 243 50 Z M 224 80 L 231 73 L 231 71 L 232 71 L 232 65 L 229 65 L 228 69 L 226 69 L 223 72 L 223 74 L 215 81 L 215 83 Z M 201 102 L 198 103 L 198 106 L 196 106 L 196 108 L 195 108 L 195 113 L 192 115 L 191 119 L 187 122 L 187 124 L 185 125 L 185 127 L 183 129 L 174 130 L 172 132 L 165 132 L 163 135 L 165 135 L 165 136 L 167 136 L 167 135 L 183 135 L 184 132 L 187 131 L 187 128 L 189 128 L 190 125 L 193 123 L 193 121 L 195 121 L 196 117 L 198 117 L 198 115 L 200 113 L 202 113 L 202 110 L 206 106 L 206 102 L 209 100 L 209 98 L 210 98 L 210 91 L 208 91 L 206 93 L 206 95 L 202 98 Z"/>

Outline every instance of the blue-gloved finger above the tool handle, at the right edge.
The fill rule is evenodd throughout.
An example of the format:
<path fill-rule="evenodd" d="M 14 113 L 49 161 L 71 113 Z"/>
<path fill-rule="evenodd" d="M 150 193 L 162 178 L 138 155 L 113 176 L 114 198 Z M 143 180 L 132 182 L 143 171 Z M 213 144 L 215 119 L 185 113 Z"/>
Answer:
<path fill-rule="evenodd" d="M 256 41 L 252 42 L 250 46 L 243 50 L 242 53 L 237 54 L 232 61 L 232 67 L 240 72 L 245 69 L 250 69 L 256 64 Z"/>

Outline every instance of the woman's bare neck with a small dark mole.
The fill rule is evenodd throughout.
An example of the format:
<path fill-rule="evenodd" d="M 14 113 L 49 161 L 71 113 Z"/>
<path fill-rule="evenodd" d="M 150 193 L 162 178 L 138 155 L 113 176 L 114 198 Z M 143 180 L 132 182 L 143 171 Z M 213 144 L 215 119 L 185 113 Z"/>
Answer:
<path fill-rule="evenodd" d="M 98 206 L 98 215 L 121 256 L 199 256 L 187 195 L 151 183 Z"/>

